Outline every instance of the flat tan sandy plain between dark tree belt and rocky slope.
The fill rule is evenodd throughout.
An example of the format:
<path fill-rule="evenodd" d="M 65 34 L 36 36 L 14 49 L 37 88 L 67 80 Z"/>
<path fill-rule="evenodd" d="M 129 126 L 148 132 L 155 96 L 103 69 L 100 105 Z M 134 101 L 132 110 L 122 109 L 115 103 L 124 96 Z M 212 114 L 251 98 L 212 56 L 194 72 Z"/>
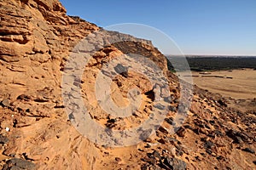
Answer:
<path fill-rule="evenodd" d="M 212 93 L 234 99 L 256 98 L 256 71 L 250 69 L 204 73 L 193 71 L 192 75 L 195 85 Z"/>

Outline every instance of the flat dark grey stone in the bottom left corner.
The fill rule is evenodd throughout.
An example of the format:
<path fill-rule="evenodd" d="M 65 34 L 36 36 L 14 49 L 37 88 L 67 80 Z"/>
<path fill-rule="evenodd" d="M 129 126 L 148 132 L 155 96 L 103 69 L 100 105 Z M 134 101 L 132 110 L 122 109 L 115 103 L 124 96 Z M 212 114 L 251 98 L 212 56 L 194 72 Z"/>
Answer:
<path fill-rule="evenodd" d="M 6 164 L 3 166 L 3 170 L 10 170 L 10 169 L 35 169 L 35 164 L 32 163 L 32 161 L 13 158 L 6 161 Z"/>

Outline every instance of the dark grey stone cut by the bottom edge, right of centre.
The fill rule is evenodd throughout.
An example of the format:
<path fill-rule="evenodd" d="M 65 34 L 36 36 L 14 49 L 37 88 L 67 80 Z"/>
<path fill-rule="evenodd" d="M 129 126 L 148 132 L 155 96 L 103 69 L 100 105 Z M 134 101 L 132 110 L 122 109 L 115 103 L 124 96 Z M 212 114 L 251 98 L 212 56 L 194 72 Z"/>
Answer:
<path fill-rule="evenodd" d="M 179 160 L 174 157 L 166 157 L 164 161 L 164 165 L 169 167 L 172 170 L 185 170 L 187 165 L 184 161 Z"/>

